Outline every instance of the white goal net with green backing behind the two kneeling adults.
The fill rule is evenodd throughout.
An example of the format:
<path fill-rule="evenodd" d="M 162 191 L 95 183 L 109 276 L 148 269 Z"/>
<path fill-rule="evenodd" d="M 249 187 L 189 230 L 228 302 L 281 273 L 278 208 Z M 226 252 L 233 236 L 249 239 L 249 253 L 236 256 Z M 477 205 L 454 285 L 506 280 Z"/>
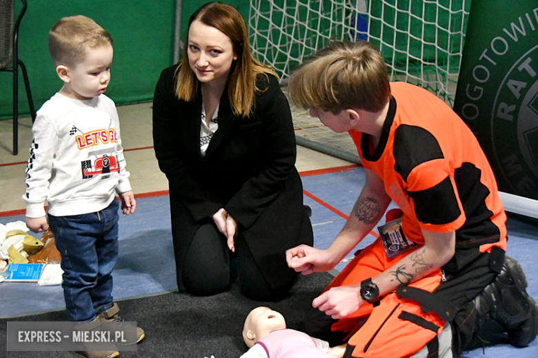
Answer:
<path fill-rule="evenodd" d="M 452 104 L 470 0 L 252 0 L 250 43 L 286 78 L 331 40 L 374 43 L 391 81 Z"/>

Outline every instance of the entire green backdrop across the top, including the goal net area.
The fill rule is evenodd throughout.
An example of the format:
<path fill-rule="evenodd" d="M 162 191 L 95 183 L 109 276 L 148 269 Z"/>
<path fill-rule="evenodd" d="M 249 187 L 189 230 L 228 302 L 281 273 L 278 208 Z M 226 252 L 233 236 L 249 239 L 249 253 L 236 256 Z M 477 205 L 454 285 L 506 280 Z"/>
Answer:
<path fill-rule="evenodd" d="M 188 17 L 207 1 L 181 1 L 181 39 Z M 330 39 L 368 39 L 383 53 L 392 80 L 416 83 L 452 103 L 470 0 L 228 0 L 249 25 L 253 52 L 286 78 Z M 20 8 L 20 1 L 15 1 Z M 48 54 L 48 30 L 61 17 L 84 14 L 114 39 L 107 94 L 118 105 L 151 101 L 159 73 L 172 65 L 172 0 L 30 0 L 19 32 L 39 108 L 61 87 Z M 11 77 L 0 73 L 0 118 L 12 113 Z M 28 114 L 19 79 L 19 113 Z"/>

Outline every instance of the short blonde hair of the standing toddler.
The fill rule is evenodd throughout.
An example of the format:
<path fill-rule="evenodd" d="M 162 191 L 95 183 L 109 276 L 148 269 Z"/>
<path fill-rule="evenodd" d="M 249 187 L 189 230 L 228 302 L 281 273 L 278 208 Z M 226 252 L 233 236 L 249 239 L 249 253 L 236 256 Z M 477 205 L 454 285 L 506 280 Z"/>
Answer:
<path fill-rule="evenodd" d="M 48 34 L 48 50 L 55 66 L 76 66 L 89 49 L 106 45 L 112 45 L 112 36 L 83 15 L 63 17 Z"/>

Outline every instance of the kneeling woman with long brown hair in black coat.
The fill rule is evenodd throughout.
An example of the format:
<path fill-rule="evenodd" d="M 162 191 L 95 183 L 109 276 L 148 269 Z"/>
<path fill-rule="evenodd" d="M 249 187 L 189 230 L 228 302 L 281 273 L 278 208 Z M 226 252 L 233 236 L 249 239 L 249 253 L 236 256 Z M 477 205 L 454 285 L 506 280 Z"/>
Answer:
<path fill-rule="evenodd" d="M 232 6 L 208 3 L 190 17 L 183 59 L 155 89 L 153 139 L 179 290 L 226 291 L 237 267 L 246 297 L 286 295 L 297 279 L 286 250 L 312 244 L 295 133 L 277 76 L 250 54 Z"/>

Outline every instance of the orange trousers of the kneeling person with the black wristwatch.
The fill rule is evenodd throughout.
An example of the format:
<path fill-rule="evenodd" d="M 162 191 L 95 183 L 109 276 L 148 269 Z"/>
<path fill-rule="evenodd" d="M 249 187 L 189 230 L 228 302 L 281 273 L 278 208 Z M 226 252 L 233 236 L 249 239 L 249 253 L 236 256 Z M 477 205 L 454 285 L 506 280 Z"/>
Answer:
<path fill-rule="evenodd" d="M 406 255 L 408 253 L 402 253 L 389 259 L 378 239 L 363 249 L 325 291 L 335 286 L 360 285 Z M 441 270 L 438 269 L 408 286 L 432 292 L 440 283 Z M 381 297 L 379 306 L 374 308 L 372 304 L 365 304 L 357 312 L 332 324 L 331 329 L 349 333 L 348 346 L 355 347 L 352 357 L 403 358 L 413 357 L 441 333 L 444 326 L 444 320 L 435 312 L 426 313 L 418 302 L 390 293 Z"/>

